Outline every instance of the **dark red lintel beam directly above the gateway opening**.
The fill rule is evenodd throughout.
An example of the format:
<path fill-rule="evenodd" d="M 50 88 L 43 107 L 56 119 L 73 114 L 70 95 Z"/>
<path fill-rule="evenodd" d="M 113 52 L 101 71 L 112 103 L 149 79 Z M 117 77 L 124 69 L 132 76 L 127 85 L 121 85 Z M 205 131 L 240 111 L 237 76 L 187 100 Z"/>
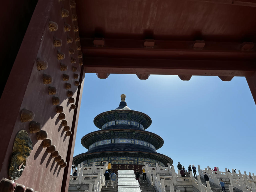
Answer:
<path fill-rule="evenodd" d="M 252 76 L 254 61 L 168 60 L 84 57 L 86 73 L 163 74 L 180 76 Z"/>

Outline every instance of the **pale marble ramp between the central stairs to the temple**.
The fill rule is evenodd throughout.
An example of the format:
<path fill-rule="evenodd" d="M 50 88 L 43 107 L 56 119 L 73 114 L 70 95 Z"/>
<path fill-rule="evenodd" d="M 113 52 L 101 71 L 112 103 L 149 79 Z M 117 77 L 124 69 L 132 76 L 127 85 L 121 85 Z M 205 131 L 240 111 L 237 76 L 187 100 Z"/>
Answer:
<path fill-rule="evenodd" d="M 133 170 L 118 170 L 118 192 L 141 192 Z"/>

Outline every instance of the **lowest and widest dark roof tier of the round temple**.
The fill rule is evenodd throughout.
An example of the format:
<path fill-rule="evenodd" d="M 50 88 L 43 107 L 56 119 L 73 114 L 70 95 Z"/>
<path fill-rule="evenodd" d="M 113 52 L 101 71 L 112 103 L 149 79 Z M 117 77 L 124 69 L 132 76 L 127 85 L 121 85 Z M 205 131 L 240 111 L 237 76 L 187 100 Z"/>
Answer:
<path fill-rule="evenodd" d="M 154 150 L 145 150 L 142 147 L 132 147 L 129 145 L 126 146 L 112 146 L 112 147 L 104 147 L 102 150 L 100 149 L 102 147 L 99 147 L 98 150 L 88 151 L 86 153 L 81 153 L 79 155 L 76 155 L 73 157 L 73 163 L 75 165 L 80 164 L 81 162 L 84 162 L 88 159 L 92 158 L 100 158 L 100 157 L 122 157 L 122 156 L 129 156 L 129 157 L 144 157 L 144 158 L 150 158 L 155 159 L 156 161 L 163 162 L 165 165 L 167 163 L 170 163 L 170 165 L 173 163 L 173 160 L 163 154 L 157 153 Z"/>

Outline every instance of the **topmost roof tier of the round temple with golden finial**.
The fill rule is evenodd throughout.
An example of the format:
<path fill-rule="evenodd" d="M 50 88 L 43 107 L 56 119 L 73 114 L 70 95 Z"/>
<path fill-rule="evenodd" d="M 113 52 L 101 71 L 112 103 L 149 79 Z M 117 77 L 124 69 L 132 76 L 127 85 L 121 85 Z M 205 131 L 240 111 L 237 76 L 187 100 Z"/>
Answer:
<path fill-rule="evenodd" d="M 141 124 L 142 126 L 139 126 L 143 127 L 144 130 L 147 129 L 152 123 L 151 118 L 145 113 L 131 110 L 125 102 L 125 97 L 125 94 L 121 95 L 121 102 L 115 110 L 105 111 L 97 115 L 93 120 L 94 125 L 102 129 L 102 126 L 106 123 L 116 120 L 128 120 Z"/>

